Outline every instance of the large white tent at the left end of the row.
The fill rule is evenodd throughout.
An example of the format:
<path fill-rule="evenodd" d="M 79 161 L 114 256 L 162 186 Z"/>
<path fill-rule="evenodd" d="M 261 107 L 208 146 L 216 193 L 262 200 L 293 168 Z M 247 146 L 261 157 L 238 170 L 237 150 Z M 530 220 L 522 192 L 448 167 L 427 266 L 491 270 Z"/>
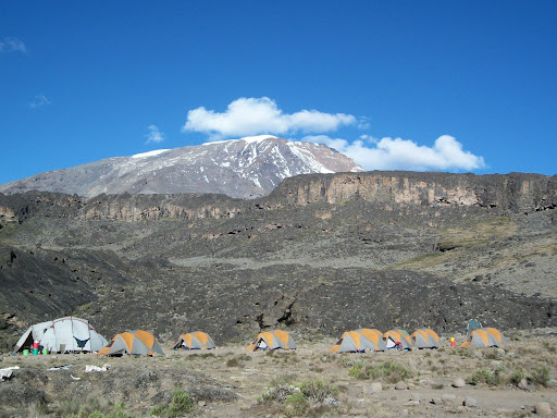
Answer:
<path fill-rule="evenodd" d="M 107 340 L 90 323 L 81 318 L 64 317 L 36 323 L 15 344 L 14 352 L 30 347 L 39 342 L 39 349 L 49 352 L 98 352 L 107 345 Z"/>

